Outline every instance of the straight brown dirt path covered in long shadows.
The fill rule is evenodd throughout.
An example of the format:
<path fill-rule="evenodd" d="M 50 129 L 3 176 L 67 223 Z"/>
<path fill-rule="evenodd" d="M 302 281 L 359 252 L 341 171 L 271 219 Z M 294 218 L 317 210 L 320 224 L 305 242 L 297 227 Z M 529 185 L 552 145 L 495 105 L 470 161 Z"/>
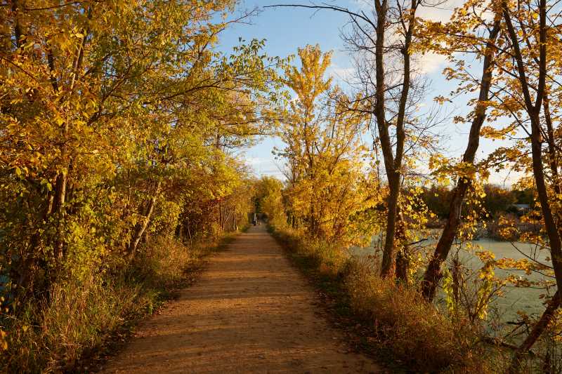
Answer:
<path fill-rule="evenodd" d="M 347 353 L 313 290 L 265 227 L 211 259 L 194 286 L 138 328 L 106 373 L 381 373 Z"/>

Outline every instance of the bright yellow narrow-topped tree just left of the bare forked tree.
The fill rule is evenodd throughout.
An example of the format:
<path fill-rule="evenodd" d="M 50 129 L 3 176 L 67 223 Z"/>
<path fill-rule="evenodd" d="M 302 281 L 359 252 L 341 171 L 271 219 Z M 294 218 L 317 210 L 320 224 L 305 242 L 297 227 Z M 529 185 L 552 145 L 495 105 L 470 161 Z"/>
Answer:
<path fill-rule="evenodd" d="M 330 54 L 318 46 L 299 49 L 301 68 L 289 67 L 285 82 L 294 92 L 280 128 L 287 159 L 290 211 L 303 218 L 313 239 L 342 244 L 365 238 L 353 215 L 374 202 L 367 193 L 368 156 L 360 134 L 365 118 L 342 110 L 341 91 L 325 79 Z M 368 238 L 368 236 L 367 236 Z"/>

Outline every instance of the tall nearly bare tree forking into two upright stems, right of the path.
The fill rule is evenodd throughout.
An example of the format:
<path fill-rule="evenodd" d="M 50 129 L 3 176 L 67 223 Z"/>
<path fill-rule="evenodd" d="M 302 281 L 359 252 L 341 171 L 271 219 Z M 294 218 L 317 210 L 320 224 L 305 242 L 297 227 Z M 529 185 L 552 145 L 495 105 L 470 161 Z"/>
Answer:
<path fill-rule="evenodd" d="M 358 66 L 360 97 L 348 102 L 348 110 L 372 115 L 377 141 L 384 159 L 388 196 L 381 275 L 393 277 L 396 267 L 395 236 L 398 201 L 403 179 L 408 117 L 412 114 L 412 45 L 417 27 L 416 11 L 420 0 L 375 0 L 372 15 L 342 6 L 282 4 L 325 9 L 349 16 L 353 27 L 344 36 L 348 46 L 360 55 Z M 392 61 L 391 72 L 387 62 Z M 360 106 L 356 104 L 360 102 Z"/>

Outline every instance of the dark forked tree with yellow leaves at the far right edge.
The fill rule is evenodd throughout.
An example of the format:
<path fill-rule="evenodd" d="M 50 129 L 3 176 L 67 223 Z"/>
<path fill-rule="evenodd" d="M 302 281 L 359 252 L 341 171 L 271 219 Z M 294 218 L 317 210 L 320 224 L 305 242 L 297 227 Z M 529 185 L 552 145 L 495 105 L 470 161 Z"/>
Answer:
<path fill-rule="evenodd" d="M 504 87 L 502 114 L 514 121 L 508 129 L 517 128 L 525 134 L 513 149 L 502 149 L 504 159 L 516 159 L 521 168 L 532 173 L 540 205 L 540 219 L 544 225 L 542 235 L 547 239 L 556 292 L 523 343 L 518 347 L 518 359 L 535 344 L 560 307 L 562 286 L 562 241 L 558 201 L 561 196 L 558 160 L 558 76 L 560 76 L 559 31 L 553 25 L 559 20 L 559 8 L 547 0 L 522 1 L 514 4 L 502 1 L 499 12 L 504 22 L 503 45 L 507 51 L 502 63 Z M 504 131 L 506 133 L 506 131 Z M 528 150 L 528 153 L 525 152 Z M 537 236 L 536 239 L 543 242 Z M 540 265 L 537 265 L 540 266 Z"/>

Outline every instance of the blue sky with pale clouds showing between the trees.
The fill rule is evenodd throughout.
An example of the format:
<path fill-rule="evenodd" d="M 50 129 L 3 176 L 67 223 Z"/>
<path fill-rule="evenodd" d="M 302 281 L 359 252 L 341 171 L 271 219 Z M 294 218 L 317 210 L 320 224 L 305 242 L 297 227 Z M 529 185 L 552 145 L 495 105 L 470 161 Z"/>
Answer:
<path fill-rule="evenodd" d="M 285 57 L 296 54 L 299 47 L 306 44 L 319 44 L 323 51 L 333 51 L 332 67 L 329 74 L 336 81 L 345 77 L 346 72 L 351 69 L 351 57 L 344 51 L 344 43 L 340 38 L 340 31 L 345 27 L 348 18 L 343 13 L 334 11 L 318 11 L 303 8 L 263 8 L 273 4 L 309 4 L 308 1 L 297 0 L 245 0 L 240 4 L 239 10 L 259 7 L 259 15 L 251 18 L 250 25 L 235 25 L 221 34 L 219 48 L 223 51 L 238 44 L 238 39 L 245 40 L 266 39 L 265 52 L 268 55 Z M 347 6 L 356 10 L 365 6 L 365 0 L 338 0 L 334 4 Z M 421 9 L 421 15 L 434 20 L 446 20 L 452 8 L 459 4 L 459 0 L 450 0 L 442 9 Z M 455 83 L 443 79 L 443 68 L 446 66 L 443 58 L 436 55 L 426 55 L 421 58 L 421 68 L 426 72 L 430 80 L 430 91 L 427 93 L 426 103 L 432 105 L 433 97 L 446 95 L 455 88 Z M 470 108 L 466 105 L 466 98 L 455 100 L 449 107 L 445 108 L 447 114 L 466 113 Z M 466 146 L 466 135 L 469 124 L 455 124 L 452 121 L 443 124 L 440 129 L 447 139 L 444 147 L 448 156 L 461 156 Z M 489 154 L 497 142 L 482 140 L 478 152 L 479 157 Z M 245 152 L 245 159 L 256 175 L 274 175 L 282 177 L 279 166 L 282 161 L 275 160 L 271 153 L 274 146 L 282 147 L 282 142 L 275 138 L 264 138 L 258 145 L 251 147 Z M 507 178 L 506 173 L 501 175 L 492 174 L 490 182 L 511 185 L 513 178 Z"/>

